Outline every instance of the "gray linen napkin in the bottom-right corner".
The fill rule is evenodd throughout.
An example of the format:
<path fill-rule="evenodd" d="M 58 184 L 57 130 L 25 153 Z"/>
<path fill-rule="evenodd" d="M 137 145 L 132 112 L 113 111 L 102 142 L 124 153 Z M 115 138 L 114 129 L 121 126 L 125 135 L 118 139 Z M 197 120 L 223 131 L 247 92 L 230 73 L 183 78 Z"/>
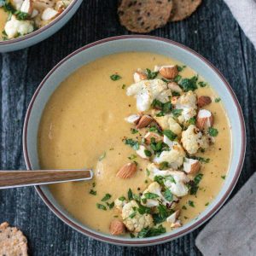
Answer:
<path fill-rule="evenodd" d="M 256 255 L 256 172 L 196 237 L 205 256 Z"/>

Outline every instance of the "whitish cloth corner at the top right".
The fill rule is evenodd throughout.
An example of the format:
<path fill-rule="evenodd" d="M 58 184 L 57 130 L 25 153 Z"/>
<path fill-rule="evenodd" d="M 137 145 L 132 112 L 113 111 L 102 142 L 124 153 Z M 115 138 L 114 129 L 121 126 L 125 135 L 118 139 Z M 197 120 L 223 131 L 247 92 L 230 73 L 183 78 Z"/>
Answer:
<path fill-rule="evenodd" d="M 256 49 L 256 0 L 224 0 Z"/>

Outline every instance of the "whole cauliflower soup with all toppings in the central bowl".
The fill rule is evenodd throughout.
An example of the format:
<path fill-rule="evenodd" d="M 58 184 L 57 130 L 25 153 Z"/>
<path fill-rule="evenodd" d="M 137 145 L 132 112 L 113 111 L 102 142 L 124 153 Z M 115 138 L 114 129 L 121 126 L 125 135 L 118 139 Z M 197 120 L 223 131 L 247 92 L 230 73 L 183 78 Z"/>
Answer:
<path fill-rule="evenodd" d="M 125 52 L 55 90 L 38 131 L 40 166 L 94 170 L 91 182 L 49 185 L 74 218 L 113 236 L 158 236 L 211 204 L 230 165 L 230 124 L 192 68 Z"/>

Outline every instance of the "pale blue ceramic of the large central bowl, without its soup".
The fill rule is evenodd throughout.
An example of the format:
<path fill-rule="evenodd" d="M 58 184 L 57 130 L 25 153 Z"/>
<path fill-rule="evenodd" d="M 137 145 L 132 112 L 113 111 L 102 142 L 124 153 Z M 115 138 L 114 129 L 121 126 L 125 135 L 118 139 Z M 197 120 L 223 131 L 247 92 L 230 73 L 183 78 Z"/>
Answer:
<path fill-rule="evenodd" d="M 47 186 L 38 186 L 36 189 L 44 203 L 52 212 L 55 212 L 58 218 L 61 218 L 61 220 L 66 224 L 86 236 L 125 246 L 154 245 L 183 236 L 192 230 L 195 230 L 201 224 L 206 222 L 207 219 L 211 218 L 212 215 L 224 204 L 224 201 L 227 200 L 241 173 L 246 139 L 244 119 L 239 102 L 237 101 L 230 84 L 228 84 L 224 79 L 223 75 L 201 55 L 182 44 L 177 44 L 176 42 L 164 38 L 148 36 L 121 36 L 107 38 L 76 50 L 73 54 L 68 55 L 63 59 L 48 73 L 32 97 L 32 101 L 26 113 L 24 125 L 24 156 L 27 169 L 33 170 L 39 168 L 37 148 L 39 121 L 45 104 L 48 102 L 49 97 L 59 86 L 61 81 L 66 79 L 76 69 L 90 61 L 94 61 L 104 55 L 111 55 L 124 51 L 149 51 L 182 61 L 185 65 L 193 67 L 195 72 L 200 73 L 207 82 L 218 91 L 218 95 L 221 97 L 224 108 L 226 109 L 227 115 L 230 119 L 231 134 L 233 138 L 230 169 L 218 196 L 212 201 L 210 206 L 205 209 L 205 211 L 201 212 L 198 218 L 195 218 L 189 224 L 184 224 L 183 227 L 177 230 L 172 230 L 170 233 L 151 238 L 131 239 L 128 237 L 108 236 L 97 232 L 96 230 L 91 230 L 84 224 L 79 223 L 78 220 L 74 219 L 67 211 L 65 211 L 65 209 L 55 201 L 55 198 L 51 195 Z"/>

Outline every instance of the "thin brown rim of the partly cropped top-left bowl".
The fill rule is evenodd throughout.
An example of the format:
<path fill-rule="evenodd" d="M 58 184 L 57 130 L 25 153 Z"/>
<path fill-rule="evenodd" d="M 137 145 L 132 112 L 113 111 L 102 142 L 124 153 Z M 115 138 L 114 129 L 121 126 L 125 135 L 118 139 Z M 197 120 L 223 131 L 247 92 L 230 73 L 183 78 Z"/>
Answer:
<path fill-rule="evenodd" d="M 43 26 L 43 27 L 41 27 L 41 28 L 39 28 L 39 29 L 29 33 L 29 34 L 26 34 L 25 36 L 20 37 L 20 38 L 14 38 L 14 39 L 6 40 L 6 41 L 0 41 L 0 47 L 2 45 L 9 45 L 9 44 L 20 43 L 22 41 L 25 41 L 26 39 L 30 39 L 30 38 L 34 38 L 34 37 L 38 36 L 38 34 L 40 34 L 41 32 L 46 31 L 49 27 L 54 26 L 59 20 L 64 18 L 64 16 L 67 15 L 71 9 L 73 9 L 73 7 L 76 5 L 77 2 L 79 2 L 79 0 L 72 0 L 72 3 L 70 3 L 67 6 L 67 9 L 65 9 L 61 13 L 61 15 L 58 15 L 54 20 L 49 22 L 48 25 Z"/>

